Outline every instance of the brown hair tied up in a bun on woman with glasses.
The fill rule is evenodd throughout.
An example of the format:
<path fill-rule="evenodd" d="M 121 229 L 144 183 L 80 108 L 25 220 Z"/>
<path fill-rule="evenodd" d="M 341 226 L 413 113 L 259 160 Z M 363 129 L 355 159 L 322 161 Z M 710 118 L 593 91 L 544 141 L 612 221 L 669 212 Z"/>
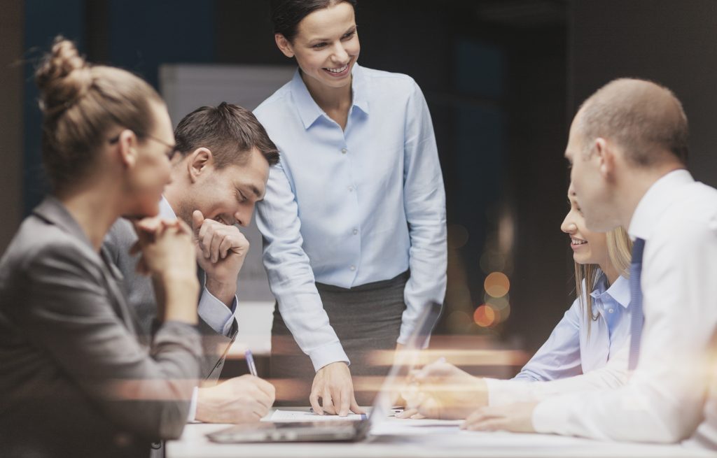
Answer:
<path fill-rule="evenodd" d="M 85 177 L 113 127 L 143 138 L 159 94 L 122 69 L 88 64 L 75 44 L 54 39 L 35 72 L 42 110 L 42 162 L 55 192 Z"/>

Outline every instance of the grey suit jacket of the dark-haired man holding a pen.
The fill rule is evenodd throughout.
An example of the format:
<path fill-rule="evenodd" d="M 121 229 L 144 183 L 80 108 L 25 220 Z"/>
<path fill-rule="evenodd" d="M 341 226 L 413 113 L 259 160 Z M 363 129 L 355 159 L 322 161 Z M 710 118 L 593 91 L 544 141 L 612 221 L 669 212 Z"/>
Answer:
<path fill-rule="evenodd" d="M 151 279 L 136 273 L 138 255 L 130 255 L 130 248 L 137 241 L 137 235 L 128 220 L 120 218 L 110 228 L 105 237 L 103 250 L 107 250 L 113 263 L 120 269 L 128 291 L 128 303 L 136 313 L 139 322 L 139 332 L 142 336 L 151 334 L 154 318 L 157 316 L 157 303 Z M 204 272 L 197 266 L 200 281 L 204 279 Z M 212 329 L 211 326 L 199 317 L 199 332 L 202 336 L 204 358 L 201 361 L 201 376 L 216 381 L 222 373 L 224 356 L 227 349 L 237 337 L 237 321 L 232 323 L 229 336 L 223 336 Z"/>

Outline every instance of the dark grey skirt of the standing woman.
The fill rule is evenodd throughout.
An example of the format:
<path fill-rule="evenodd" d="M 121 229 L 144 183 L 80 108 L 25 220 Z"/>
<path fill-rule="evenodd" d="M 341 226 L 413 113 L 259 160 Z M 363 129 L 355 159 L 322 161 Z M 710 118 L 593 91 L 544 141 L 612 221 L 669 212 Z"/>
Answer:
<path fill-rule="evenodd" d="M 356 401 L 371 405 L 390 366 L 375 364 L 376 351 L 394 350 L 401 329 L 401 317 L 406 309 L 404 288 L 409 272 L 391 280 L 377 281 L 355 288 L 316 283 L 323 308 L 343 351 L 351 361 Z M 277 405 L 306 406 L 315 376 L 313 364 L 299 349 L 281 317 L 274 309 L 272 326 L 272 379 L 290 379 L 290 384 L 277 384 Z"/>

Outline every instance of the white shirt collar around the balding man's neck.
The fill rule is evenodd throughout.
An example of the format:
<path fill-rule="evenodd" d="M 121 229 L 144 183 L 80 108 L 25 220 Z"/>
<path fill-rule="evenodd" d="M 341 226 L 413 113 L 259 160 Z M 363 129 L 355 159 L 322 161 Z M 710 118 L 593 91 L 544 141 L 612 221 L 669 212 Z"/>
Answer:
<path fill-rule="evenodd" d="M 652 235 L 655 220 L 662 215 L 666 205 L 675 196 L 675 189 L 690 182 L 694 182 L 690 172 L 684 169 L 674 170 L 660 178 L 650 186 L 647 193 L 642 196 L 630 220 L 630 229 L 627 232 L 634 240 L 642 238 L 649 240 Z"/>

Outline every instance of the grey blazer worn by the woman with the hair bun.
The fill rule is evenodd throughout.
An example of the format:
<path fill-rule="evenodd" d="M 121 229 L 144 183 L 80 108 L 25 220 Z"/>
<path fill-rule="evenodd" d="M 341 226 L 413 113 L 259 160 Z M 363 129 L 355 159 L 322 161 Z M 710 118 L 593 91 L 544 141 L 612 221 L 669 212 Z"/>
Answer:
<path fill-rule="evenodd" d="M 199 375 L 193 326 L 149 348 L 106 254 L 55 198 L 0 260 L 0 448 L 8 456 L 148 456 L 179 437 Z"/>

